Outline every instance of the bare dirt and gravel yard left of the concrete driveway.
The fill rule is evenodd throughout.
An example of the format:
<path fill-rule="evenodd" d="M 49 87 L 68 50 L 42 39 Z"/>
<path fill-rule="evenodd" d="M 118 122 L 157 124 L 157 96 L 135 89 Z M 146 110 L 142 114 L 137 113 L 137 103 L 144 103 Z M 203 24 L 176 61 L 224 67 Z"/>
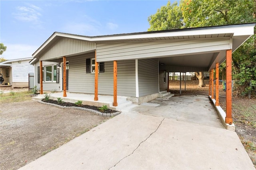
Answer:
<path fill-rule="evenodd" d="M 37 101 L 1 103 L 0 169 L 18 169 L 108 120 Z"/>

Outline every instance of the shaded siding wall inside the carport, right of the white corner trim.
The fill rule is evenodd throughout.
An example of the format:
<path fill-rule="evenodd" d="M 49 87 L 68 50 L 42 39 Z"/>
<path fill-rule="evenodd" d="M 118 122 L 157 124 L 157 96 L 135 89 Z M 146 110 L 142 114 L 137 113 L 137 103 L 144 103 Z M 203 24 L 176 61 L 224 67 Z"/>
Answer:
<path fill-rule="evenodd" d="M 156 59 L 138 60 L 139 97 L 158 93 L 158 61 Z"/>

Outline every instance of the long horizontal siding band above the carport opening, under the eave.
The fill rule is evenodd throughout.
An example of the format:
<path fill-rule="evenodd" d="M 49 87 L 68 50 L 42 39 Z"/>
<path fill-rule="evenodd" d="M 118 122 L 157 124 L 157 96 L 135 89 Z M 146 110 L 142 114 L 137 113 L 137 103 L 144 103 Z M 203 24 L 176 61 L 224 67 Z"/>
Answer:
<path fill-rule="evenodd" d="M 155 58 L 186 53 L 229 49 L 229 38 L 97 43 L 98 61 Z"/>

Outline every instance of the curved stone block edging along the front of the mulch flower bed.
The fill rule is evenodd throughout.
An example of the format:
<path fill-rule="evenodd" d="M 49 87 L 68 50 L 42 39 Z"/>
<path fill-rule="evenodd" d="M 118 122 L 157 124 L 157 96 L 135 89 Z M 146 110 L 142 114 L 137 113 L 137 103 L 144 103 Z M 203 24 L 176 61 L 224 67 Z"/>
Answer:
<path fill-rule="evenodd" d="M 99 111 L 95 111 L 93 109 L 87 109 L 87 108 L 84 108 L 84 107 L 75 107 L 75 106 L 66 107 L 66 106 L 56 105 L 56 104 L 53 104 L 53 103 L 46 103 L 46 102 L 43 102 L 43 101 L 38 101 L 38 103 L 41 103 L 43 105 L 50 105 L 50 106 L 58 107 L 59 109 L 74 109 L 74 110 L 88 111 L 90 113 L 94 113 L 96 115 L 103 116 L 103 117 L 112 117 L 112 116 L 119 115 L 121 113 L 121 112 L 101 113 Z"/>

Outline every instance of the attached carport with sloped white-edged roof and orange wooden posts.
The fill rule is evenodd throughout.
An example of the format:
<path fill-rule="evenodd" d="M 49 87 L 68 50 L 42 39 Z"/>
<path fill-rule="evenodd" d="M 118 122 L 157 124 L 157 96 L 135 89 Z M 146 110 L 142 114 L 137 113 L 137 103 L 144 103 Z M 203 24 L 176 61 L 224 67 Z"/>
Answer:
<path fill-rule="evenodd" d="M 153 41 L 150 44 L 141 42 L 139 48 L 132 47 L 132 50 L 123 48 L 122 51 L 107 54 L 101 52 L 99 47 L 97 61 L 114 61 L 116 63 L 116 60 L 120 59 L 158 58 L 159 70 L 166 70 L 168 73 L 209 71 L 209 97 L 224 118 L 225 123 L 232 125 L 232 52 L 254 34 L 254 26 L 254 23 L 237 24 L 113 36 L 110 37 L 112 41 L 162 41 Z M 218 74 L 219 65 L 225 60 L 226 114 L 223 114 L 224 111 L 219 106 Z M 216 69 L 215 95 L 213 93 L 214 69 Z M 116 72 L 116 66 L 114 66 L 114 77 L 116 77 Z M 117 88 L 115 83 L 114 88 Z M 115 97 L 114 93 L 114 103 L 116 103 Z"/>

